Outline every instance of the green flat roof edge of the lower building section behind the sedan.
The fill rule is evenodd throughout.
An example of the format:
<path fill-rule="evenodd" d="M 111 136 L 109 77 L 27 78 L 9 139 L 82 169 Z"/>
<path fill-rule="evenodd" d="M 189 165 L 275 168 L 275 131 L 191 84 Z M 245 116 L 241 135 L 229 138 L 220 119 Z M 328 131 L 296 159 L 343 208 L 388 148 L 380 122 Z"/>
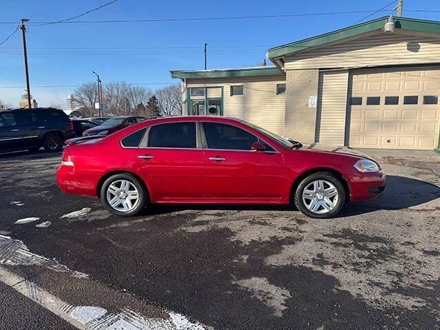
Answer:
<path fill-rule="evenodd" d="M 276 76 L 284 74 L 275 66 L 260 66 L 242 69 L 170 71 L 172 78 L 231 78 L 234 76 Z"/>

